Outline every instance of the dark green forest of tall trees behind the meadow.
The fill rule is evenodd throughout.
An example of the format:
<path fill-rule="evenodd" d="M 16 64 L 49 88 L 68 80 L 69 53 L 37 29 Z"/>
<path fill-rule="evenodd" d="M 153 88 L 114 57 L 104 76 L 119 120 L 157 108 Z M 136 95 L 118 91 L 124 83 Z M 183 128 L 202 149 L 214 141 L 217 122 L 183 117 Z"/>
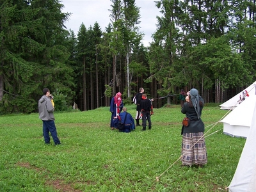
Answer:
<path fill-rule="evenodd" d="M 65 28 L 58 0 L 0 0 L 0 114 L 37 111 L 42 89 L 56 110 L 126 103 L 142 86 L 154 107 L 177 104 L 180 89 L 197 88 L 221 103 L 255 81 L 255 1 L 156 1 L 156 32 L 141 44 L 135 0 L 111 0 L 109 24 Z"/>

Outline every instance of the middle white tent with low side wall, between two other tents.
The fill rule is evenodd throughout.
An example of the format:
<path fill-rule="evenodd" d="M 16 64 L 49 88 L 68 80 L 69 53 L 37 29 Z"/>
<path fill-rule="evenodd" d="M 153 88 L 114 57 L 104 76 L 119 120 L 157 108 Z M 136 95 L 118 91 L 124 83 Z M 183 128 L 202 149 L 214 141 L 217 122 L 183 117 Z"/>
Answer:
<path fill-rule="evenodd" d="M 250 95 L 232 110 L 223 120 L 223 133 L 230 136 L 247 138 L 252 123 L 256 95 Z"/>

